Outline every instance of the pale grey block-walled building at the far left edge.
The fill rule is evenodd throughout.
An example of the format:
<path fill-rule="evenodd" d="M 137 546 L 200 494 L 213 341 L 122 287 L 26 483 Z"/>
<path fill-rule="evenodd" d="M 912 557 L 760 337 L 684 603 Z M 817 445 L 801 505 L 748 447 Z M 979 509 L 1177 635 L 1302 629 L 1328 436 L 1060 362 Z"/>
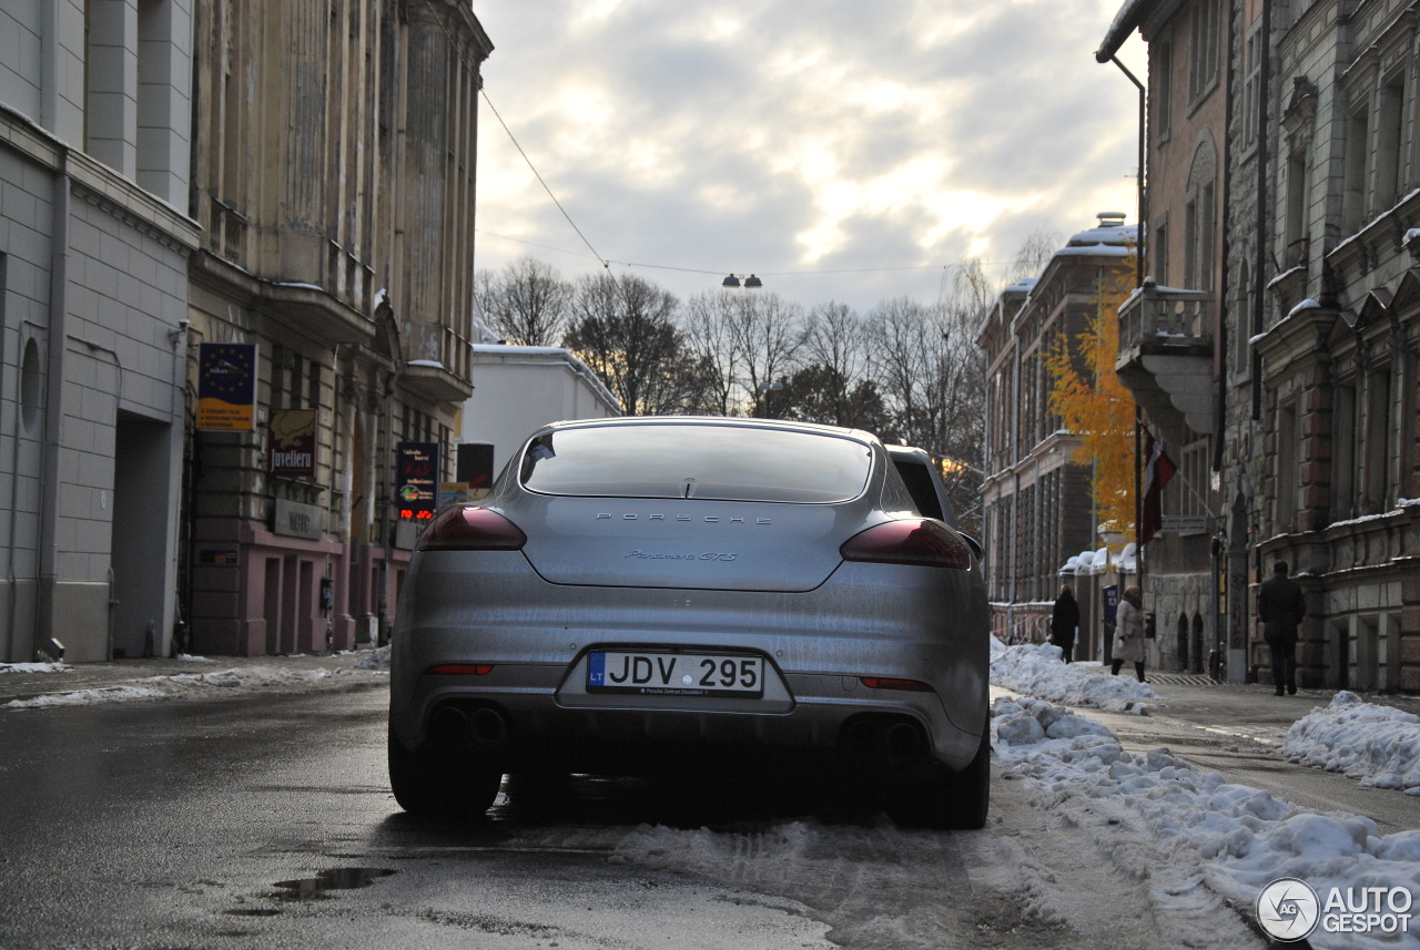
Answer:
<path fill-rule="evenodd" d="M 192 16 L 0 0 L 0 661 L 169 645 Z"/>

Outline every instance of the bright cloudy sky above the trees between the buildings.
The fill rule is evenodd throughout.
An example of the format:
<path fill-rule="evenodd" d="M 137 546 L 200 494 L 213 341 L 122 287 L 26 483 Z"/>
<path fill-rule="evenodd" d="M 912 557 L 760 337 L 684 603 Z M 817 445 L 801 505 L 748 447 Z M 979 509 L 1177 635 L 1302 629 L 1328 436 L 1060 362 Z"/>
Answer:
<path fill-rule="evenodd" d="M 1032 233 L 1135 220 L 1137 91 L 1093 58 L 1120 3 L 474 0 L 511 132 L 484 102 L 477 267 L 861 311 L 1004 276 Z"/>

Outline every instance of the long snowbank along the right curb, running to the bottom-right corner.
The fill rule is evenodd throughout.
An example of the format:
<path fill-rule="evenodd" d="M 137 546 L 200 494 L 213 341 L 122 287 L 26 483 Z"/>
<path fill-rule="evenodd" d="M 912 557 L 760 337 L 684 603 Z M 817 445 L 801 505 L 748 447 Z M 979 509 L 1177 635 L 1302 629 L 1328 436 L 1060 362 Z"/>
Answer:
<path fill-rule="evenodd" d="M 1133 756 L 1099 723 L 1038 699 L 997 699 L 991 719 L 1005 773 L 1041 788 L 1032 804 L 1082 824 L 1105 811 L 1110 824 L 1135 825 L 1177 865 L 1196 866 L 1214 892 L 1244 906 L 1278 878 L 1299 878 L 1318 893 L 1420 890 L 1420 831 L 1380 837 L 1369 818 L 1296 808 L 1166 749 Z M 1379 950 L 1403 946 L 1400 936 L 1316 930 L 1311 941 L 1318 950 Z"/>

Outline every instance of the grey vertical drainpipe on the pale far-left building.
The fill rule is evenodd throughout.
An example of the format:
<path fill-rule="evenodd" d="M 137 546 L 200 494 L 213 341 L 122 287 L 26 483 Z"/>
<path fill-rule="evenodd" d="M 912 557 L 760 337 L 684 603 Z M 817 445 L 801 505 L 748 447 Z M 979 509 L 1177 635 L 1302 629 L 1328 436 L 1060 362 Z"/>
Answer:
<path fill-rule="evenodd" d="M 60 441 L 64 421 L 64 356 L 70 311 L 70 203 L 68 172 L 54 176 L 50 238 L 50 332 L 44 380 L 44 445 L 40 461 L 40 557 L 36 604 L 34 655 L 64 658 L 64 644 L 54 637 L 54 597 L 58 586 Z"/>

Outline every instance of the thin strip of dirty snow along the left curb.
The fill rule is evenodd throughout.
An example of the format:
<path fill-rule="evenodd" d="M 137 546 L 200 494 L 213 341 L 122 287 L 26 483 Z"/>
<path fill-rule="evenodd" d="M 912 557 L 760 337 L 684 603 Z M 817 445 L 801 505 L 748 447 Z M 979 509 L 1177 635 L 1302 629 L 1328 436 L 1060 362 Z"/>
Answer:
<path fill-rule="evenodd" d="M 64 693 L 47 693 L 34 699 L 16 699 L 6 709 L 47 709 L 53 706 L 89 706 L 105 702 L 128 702 L 133 699 L 200 699 L 212 691 L 297 693 L 325 688 L 345 686 L 365 679 L 364 674 L 339 669 L 281 669 L 277 666 L 246 666 L 220 669 L 209 674 L 175 674 L 169 676 L 146 676 L 115 686 L 97 689 L 75 689 Z"/>

